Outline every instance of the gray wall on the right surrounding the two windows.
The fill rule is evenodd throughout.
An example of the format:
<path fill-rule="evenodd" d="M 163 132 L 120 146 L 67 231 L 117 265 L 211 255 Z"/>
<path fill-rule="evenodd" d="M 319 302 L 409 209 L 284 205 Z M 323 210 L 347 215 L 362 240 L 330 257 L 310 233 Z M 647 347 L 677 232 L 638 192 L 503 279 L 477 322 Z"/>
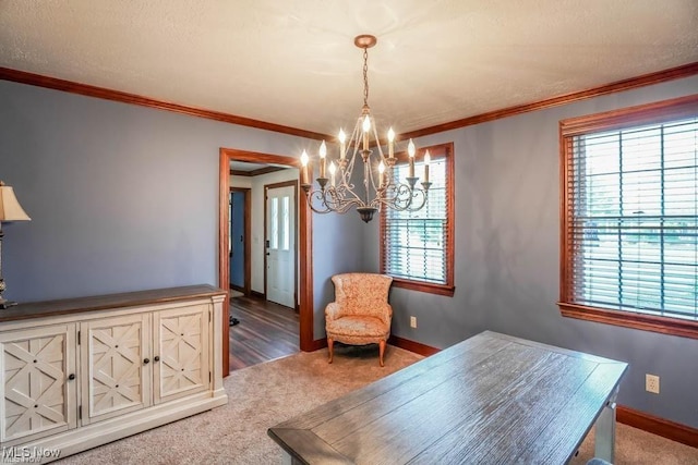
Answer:
<path fill-rule="evenodd" d="M 454 142 L 456 293 L 393 289 L 393 332 L 446 347 L 490 329 L 628 362 L 619 403 L 698 427 L 698 340 L 563 318 L 558 297 L 558 121 L 698 91 L 698 77 L 423 137 Z M 376 270 L 377 225 L 364 268 Z M 410 329 L 409 316 L 418 317 Z M 645 374 L 661 394 L 645 392 Z"/>

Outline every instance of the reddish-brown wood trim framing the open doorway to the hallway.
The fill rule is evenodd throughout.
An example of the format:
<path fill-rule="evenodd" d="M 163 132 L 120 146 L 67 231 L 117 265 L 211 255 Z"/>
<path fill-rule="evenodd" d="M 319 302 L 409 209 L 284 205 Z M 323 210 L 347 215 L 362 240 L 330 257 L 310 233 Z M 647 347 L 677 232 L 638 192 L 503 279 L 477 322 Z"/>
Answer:
<path fill-rule="evenodd" d="M 251 161 L 256 163 L 285 164 L 299 169 L 300 160 L 294 157 L 279 155 L 260 154 L 255 151 L 238 150 L 233 148 L 219 149 L 218 163 L 218 287 L 226 291 L 226 298 L 222 306 L 222 375 L 230 374 L 230 257 L 228 257 L 228 193 L 230 192 L 230 161 Z M 300 322 L 300 347 L 303 352 L 312 352 L 324 344 L 322 341 L 313 341 L 313 235 L 312 216 L 306 201 L 298 198 L 298 250 L 299 250 L 299 282 L 301 289 L 299 322 Z"/>

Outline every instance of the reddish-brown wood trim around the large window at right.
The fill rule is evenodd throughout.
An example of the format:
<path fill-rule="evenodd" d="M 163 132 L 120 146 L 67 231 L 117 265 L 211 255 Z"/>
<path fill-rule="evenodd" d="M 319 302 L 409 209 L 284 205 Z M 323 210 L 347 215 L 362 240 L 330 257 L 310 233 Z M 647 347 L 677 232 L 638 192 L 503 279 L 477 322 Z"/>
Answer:
<path fill-rule="evenodd" d="M 653 331 L 684 338 L 698 339 L 698 321 L 688 319 L 652 316 L 628 310 L 590 307 L 571 303 L 568 296 L 573 289 L 570 283 L 574 258 L 571 244 L 568 243 L 567 228 L 570 219 L 567 205 L 567 186 L 570 173 L 567 172 L 567 158 L 571 156 L 567 140 L 574 136 L 598 131 L 613 131 L 628 126 L 650 123 L 662 123 L 696 114 L 698 94 L 663 100 L 653 103 L 629 107 L 587 117 L 573 118 L 559 122 L 559 307 L 563 317 Z"/>

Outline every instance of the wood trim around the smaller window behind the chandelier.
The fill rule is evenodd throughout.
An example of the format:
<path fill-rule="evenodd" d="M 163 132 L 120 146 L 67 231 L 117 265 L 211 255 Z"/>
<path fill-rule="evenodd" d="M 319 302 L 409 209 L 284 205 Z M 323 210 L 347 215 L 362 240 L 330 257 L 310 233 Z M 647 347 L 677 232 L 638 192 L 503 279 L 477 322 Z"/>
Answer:
<path fill-rule="evenodd" d="M 446 211 L 446 283 L 445 284 L 436 284 L 418 280 L 408 280 L 405 278 L 393 278 L 393 286 L 407 289 L 410 291 L 424 292 L 429 294 L 437 294 L 453 297 L 456 292 L 456 286 L 454 283 L 454 238 L 455 238 L 455 229 L 456 223 L 455 219 L 455 156 L 454 156 L 454 143 L 445 143 L 432 145 L 429 147 L 422 147 L 417 151 L 417 158 L 423 157 L 424 151 L 429 150 L 432 155 L 432 159 L 435 158 L 445 158 L 446 159 L 446 176 L 448 179 L 448 185 L 446 189 L 446 203 L 447 203 L 447 211 Z M 395 157 L 400 162 L 406 162 L 408 157 L 407 152 L 395 154 Z M 385 210 L 381 211 L 381 223 L 380 223 L 380 253 L 381 257 L 380 270 L 382 273 L 385 273 L 385 259 L 384 259 L 384 236 L 385 236 L 385 221 L 386 215 Z M 389 273 L 388 273 L 389 274 Z"/>

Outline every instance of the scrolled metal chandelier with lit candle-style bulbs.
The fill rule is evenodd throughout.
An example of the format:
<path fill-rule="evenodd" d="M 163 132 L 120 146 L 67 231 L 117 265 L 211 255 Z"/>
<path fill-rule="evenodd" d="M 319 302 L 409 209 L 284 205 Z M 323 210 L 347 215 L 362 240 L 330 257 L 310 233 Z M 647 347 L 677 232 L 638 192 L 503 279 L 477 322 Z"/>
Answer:
<path fill-rule="evenodd" d="M 377 39 L 371 35 L 357 36 L 353 42 L 363 49 L 363 107 L 349 139 L 344 130 L 339 130 L 339 157 L 327 161 L 325 140 L 320 146 L 320 173 L 315 185 L 311 184 L 312 168 L 309 167 L 308 152 L 301 155 L 301 187 L 305 192 L 310 208 L 317 213 L 346 213 L 352 207 L 361 219 L 369 222 L 382 207 L 400 211 L 416 211 L 426 203 L 426 194 L 432 183 L 429 182 L 429 150 L 424 154 L 424 179 L 417 186 L 419 176 L 414 175 L 414 144 L 408 144 L 408 175 L 404 182 L 395 176 L 395 132 L 387 132 L 388 156 L 381 148 L 378 132 L 369 108 L 369 49 Z M 376 152 L 369 147 L 375 142 Z M 347 144 L 348 142 L 348 144 Z M 359 156 L 359 157 L 357 157 Z M 353 169 L 359 169 L 357 160 L 363 163 L 362 186 L 353 184 Z M 309 173 L 310 171 L 310 173 Z M 328 178 L 329 176 L 329 178 Z"/>

